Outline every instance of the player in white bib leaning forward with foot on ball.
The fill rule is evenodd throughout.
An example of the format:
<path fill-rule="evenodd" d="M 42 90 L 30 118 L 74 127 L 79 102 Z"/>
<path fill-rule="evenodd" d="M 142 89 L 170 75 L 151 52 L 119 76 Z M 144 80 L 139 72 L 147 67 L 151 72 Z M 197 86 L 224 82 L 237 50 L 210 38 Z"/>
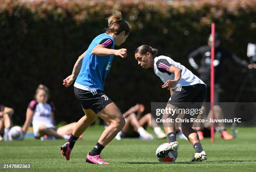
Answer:
<path fill-rule="evenodd" d="M 143 45 L 136 49 L 135 58 L 142 68 L 154 68 L 159 78 L 164 82 L 163 89 L 175 88 L 166 107 L 181 107 L 184 102 L 203 102 L 206 94 L 206 85 L 191 71 L 180 63 L 177 63 L 167 56 L 156 56 L 158 50 L 151 46 Z M 202 103 L 195 108 L 201 108 Z M 165 125 L 164 125 L 165 126 Z M 169 139 L 169 144 L 160 152 L 168 153 L 170 150 L 177 150 L 179 144 L 176 141 L 175 127 L 165 127 L 165 132 Z M 202 149 L 197 132 L 192 126 L 181 127 L 183 134 L 195 149 L 195 157 L 192 161 L 203 161 L 207 159 L 205 151 Z"/>

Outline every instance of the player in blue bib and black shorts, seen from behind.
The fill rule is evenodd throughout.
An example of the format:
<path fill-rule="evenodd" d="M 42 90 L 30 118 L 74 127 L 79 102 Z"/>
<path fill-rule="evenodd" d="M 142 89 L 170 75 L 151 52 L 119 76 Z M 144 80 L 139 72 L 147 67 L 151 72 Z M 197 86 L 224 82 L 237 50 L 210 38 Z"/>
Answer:
<path fill-rule="evenodd" d="M 115 11 L 108 18 L 108 28 L 98 35 L 87 51 L 79 56 L 74 65 L 72 75 L 64 79 L 64 86 L 70 86 L 73 81 L 74 93 L 82 104 L 85 116 L 76 124 L 69 141 L 61 147 L 61 154 L 69 160 L 70 153 L 78 137 L 99 116 L 110 125 L 104 130 L 95 147 L 87 154 L 86 161 L 93 164 L 109 164 L 100 157 L 102 149 L 121 131 L 125 125 L 118 107 L 103 91 L 105 78 L 108 75 L 115 56 L 125 58 L 126 49 L 115 50 L 128 37 L 131 26 L 122 20 L 120 12 Z"/>

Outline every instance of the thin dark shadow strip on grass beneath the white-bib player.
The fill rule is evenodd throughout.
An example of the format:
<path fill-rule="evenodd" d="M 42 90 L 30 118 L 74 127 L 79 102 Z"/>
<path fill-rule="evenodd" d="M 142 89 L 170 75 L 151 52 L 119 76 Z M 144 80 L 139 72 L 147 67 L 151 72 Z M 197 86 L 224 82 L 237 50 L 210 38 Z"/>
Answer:
<path fill-rule="evenodd" d="M 256 162 L 256 160 L 219 160 L 204 162 L 173 162 L 171 164 L 195 164 L 195 163 L 227 163 L 227 162 Z M 170 162 L 122 162 L 127 164 L 170 164 Z"/>

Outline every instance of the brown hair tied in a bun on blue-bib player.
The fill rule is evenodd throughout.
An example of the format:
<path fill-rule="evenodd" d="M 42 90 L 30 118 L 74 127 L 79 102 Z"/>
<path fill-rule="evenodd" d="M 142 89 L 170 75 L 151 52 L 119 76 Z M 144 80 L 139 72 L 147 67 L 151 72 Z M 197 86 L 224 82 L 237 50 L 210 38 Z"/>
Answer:
<path fill-rule="evenodd" d="M 108 28 L 104 31 L 107 34 L 115 33 L 116 35 L 125 31 L 125 35 L 129 35 L 131 32 L 131 25 L 122 19 L 122 14 L 120 11 L 113 11 L 112 15 L 108 19 Z"/>

